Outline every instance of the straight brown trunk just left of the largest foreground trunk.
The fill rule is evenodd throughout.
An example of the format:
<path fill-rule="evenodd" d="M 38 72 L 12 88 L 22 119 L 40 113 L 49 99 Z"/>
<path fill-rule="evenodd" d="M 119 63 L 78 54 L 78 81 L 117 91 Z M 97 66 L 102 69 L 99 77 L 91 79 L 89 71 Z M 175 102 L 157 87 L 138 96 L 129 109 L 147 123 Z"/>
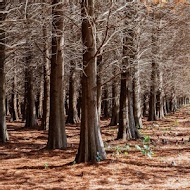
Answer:
<path fill-rule="evenodd" d="M 50 75 L 50 123 L 47 147 L 61 149 L 67 147 L 64 114 L 64 59 L 63 59 L 63 4 L 53 0 L 53 37 Z M 57 4 L 57 5 L 56 5 Z"/>

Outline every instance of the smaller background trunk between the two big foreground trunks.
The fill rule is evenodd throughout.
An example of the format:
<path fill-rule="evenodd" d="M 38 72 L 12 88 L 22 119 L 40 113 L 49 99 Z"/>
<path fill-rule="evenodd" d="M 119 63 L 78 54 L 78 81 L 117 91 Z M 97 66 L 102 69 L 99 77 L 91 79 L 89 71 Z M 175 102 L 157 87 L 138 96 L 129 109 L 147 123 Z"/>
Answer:
<path fill-rule="evenodd" d="M 80 119 L 77 113 L 77 84 L 76 84 L 76 64 L 71 63 L 70 80 L 69 80 L 69 111 L 66 123 L 79 123 Z"/>

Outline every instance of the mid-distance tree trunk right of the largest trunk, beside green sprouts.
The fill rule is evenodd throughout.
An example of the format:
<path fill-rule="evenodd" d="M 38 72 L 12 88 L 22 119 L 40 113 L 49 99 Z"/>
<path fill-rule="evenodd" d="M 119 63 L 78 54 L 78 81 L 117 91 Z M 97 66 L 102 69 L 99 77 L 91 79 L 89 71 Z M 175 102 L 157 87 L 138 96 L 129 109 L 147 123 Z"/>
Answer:
<path fill-rule="evenodd" d="M 128 2 L 132 2 L 131 0 L 128 0 Z M 133 89 L 132 89 L 132 75 L 134 70 L 132 69 L 132 65 L 134 64 L 134 59 L 136 56 L 136 46 L 134 44 L 135 40 L 135 31 L 133 28 L 130 27 L 131 19 L 134 16 L 134 7 L 133 5 L 129 4 L 127 7 L 128 13 L 126 14 L 126 25 L 128 28 L 124 30 L 124 39 L 123 39 L 123 56 L 125 57 L 123 59 L 122 63 L 122 79 L 121 79 L 121 90 L 124 89 L 123 93 L 124 95 L 120 94 L 120 107 L 126 106 L 123 111 L 127 112 L 127 116 L 125 116 L 125 113 L 121 113 L 122 109 L 120 108 L 120 126 L 118 131 L 118 138 L 128 138 L 128 139 L 138 139 L 140 137 L 140 134 L 138 132 L 137 127 L 135 126 L 135 119 L 134 119 L 134 102 L 133 102 Z M 126 87 L 125 87 L 126 86 Z M 125 89 L 126 88 L 126 89 Z M 126 90 L 126 91 L 125 91 Z M 122 93 L 122 91 L 121 91 Z M 126 95 L 125 95 L 126 94 Z M 123 96 L 123 97 L 122 97 Z M 126 97 L 125 97 L 126 96 Z M 124 98 L 123 103 L 121 101 L 121 98 Z M 125 103 L 125 101 L 127 101 Z M 127 120 L 128 118 L 128 120 Z M 121 121 L 123 119 L 123 121 Z M 125 124 L 127 122 L 127 124 Z M 125 127 L 127 127 L 127 130 L 125 131 Z M 126 135 L 124 133 L 127 133 Z M 123 134 L 123 136 L 121 136 Z"/>

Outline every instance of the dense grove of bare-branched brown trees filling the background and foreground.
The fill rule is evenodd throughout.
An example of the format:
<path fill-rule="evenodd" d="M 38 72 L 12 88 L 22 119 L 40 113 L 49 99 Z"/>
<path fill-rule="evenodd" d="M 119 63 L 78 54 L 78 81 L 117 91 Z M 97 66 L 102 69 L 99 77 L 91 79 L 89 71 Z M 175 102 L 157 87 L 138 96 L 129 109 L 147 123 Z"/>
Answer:
<path fill-rule="evenodd" d="M 186 1 L 0 1 L 0 141 L 5 116 L 48 130 L 49 149 L 81 122 L 76 162 L 104 160 L 102 117 L 138 139 L 142 117 L 189 102 L 189 30 Z"/>

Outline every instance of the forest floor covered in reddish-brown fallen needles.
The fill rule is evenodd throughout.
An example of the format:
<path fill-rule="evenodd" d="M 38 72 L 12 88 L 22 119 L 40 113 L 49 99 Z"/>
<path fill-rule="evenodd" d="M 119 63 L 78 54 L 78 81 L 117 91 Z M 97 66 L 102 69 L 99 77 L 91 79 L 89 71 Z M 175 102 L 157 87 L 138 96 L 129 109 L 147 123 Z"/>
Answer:
<path fill-rule="evenodd" d="M 101 124 L 107 160 L 91 165 L 69 164 L 77 152 L 79 126 L 67 126 L 67 150 L 48 151 L 46 131 L 8 123 L 10 141 L 0 145 L 0 189 L 190 189 L 189 106 L 164 120 L 144 121 L 140 131 L 150 136 L 145 148 L 152 158 L 140 151 L 142 140 L 116 141 L 117 127 L 108 126 L 109 120 Z"/>

